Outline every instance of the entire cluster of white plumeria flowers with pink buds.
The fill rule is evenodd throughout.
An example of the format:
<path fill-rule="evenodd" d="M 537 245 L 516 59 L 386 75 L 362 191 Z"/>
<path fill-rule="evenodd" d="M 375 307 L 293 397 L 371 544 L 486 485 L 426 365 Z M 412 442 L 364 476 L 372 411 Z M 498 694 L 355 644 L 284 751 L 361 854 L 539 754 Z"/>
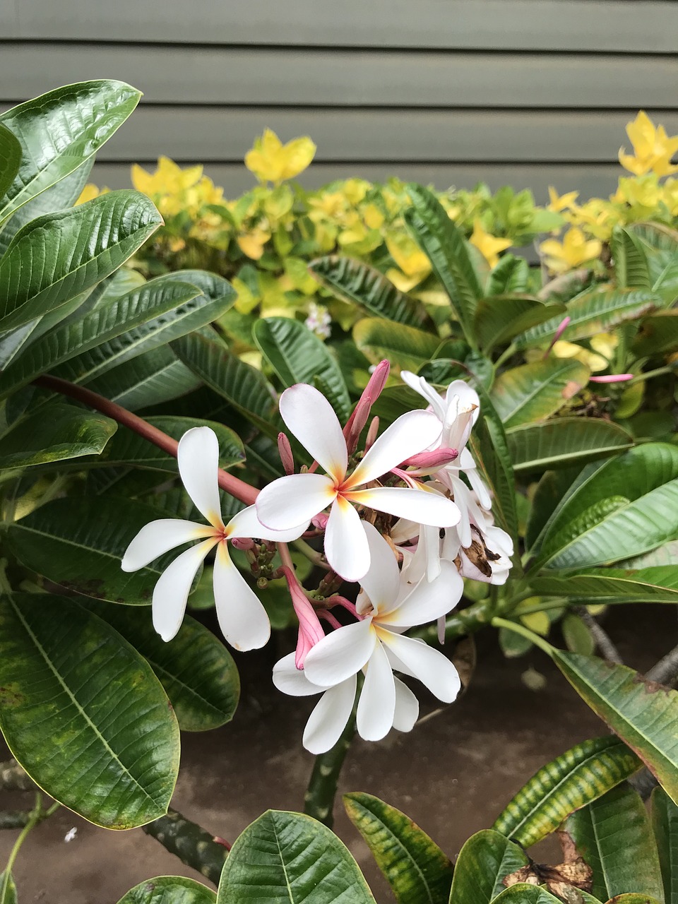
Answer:
<path fill-rule="evenodd" d="M 423 378 L 403 372 L 428 408 L 401 415 L 378 435 L 378 419 L 370 421 L 370 414 L 389 368 L 382 362 L 375 369 L 344 428 L 314 387 L 297 384 L 284 391 L 281 417 L 313 464 L 295 473 L 289 439 L 281 434 L 287 476 L 264 487 L 256 503 L 229 523 L 221 518 L 217 439 L 210 428 L 189 430 L 179 444 L 179 471 L 209 524 L 149 523 L 122 562 L 124 570 L 137 570 L 178 545 L 199 541 L 174 559 L 155 586 L 154 625 L 170 640 L 196 571 L 216 547 L 213 582 L 221 630 L 231 645 L 248 650 L 267 642 L 268 617 L 232 564 L 229 544 L 258 547 L 259 562 L 267 556 L 272 562 L 278 550 L 281 564 L 272 576 L 287 580 L 299 632 L 297 650 L 278 662 L 273 680 L 289 694 L 322 694 L 304 733 L 313 753 L 339 739 L 356 693 L 364 739 L 381 739 L 391 728 L 409 731 L 419 703 L 394 672 L 418 679 L 442 702 L 454 701 L 460 687 L 454 665 L 406 632 L 438 621 L 443 640 L 445 617 L 457 606 L 464 579 L 502 584 L 511 567 L 512 542 L 494 525 L 490 494 L 466 448 L 479 413 L 476 392 L 454 381 L 439 395 Z M 325 576 L 315 590 L 301 586 L 287 550 L 287 542 L 302 535 L 322 544 L 314 556 Z"/>

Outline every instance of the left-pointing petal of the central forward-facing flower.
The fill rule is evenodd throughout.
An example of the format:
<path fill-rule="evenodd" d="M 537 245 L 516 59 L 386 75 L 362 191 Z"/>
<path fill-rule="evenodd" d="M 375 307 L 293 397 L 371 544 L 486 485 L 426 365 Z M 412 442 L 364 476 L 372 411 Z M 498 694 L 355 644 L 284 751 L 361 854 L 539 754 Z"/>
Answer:
<path fill-rule="evenodd" d="M 278 477 L 257 496 L 257 517 L 271 531 L 291 531 L 306 524 L 336 498 L 334 481 L 324 474 Z"/>

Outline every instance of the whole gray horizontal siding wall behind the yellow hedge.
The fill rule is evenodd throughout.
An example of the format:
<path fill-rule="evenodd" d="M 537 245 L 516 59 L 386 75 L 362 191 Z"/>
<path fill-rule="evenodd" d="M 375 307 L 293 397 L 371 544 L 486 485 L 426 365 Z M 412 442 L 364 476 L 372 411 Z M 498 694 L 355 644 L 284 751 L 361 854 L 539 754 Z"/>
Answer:
<path fill-rule="evenodd" d="M 0 0 L 0 108 L 71 81 L 144 91 L 94 178 L 165 154 L 228 195 L 271 127 L 318 146 L 301 181 L 607 194 L 645 108 L 678 132 L 678 4 L 598 0 Z"/>

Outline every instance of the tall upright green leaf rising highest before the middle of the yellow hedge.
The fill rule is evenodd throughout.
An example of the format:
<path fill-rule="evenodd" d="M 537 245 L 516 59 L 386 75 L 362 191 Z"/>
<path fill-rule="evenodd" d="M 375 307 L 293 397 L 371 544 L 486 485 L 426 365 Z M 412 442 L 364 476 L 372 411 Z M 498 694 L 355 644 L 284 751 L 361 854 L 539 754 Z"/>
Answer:
<path fill-rule="evenodd" d="M 407 186 L 412 207 L 405 224 L 431 262 L 433 272 L 449 296 L 466 342 L 476 348 L 473 320 L 483 289 L 471 263 L 463 234 L 449 219 L 438 198 L 423 185 Z"/>

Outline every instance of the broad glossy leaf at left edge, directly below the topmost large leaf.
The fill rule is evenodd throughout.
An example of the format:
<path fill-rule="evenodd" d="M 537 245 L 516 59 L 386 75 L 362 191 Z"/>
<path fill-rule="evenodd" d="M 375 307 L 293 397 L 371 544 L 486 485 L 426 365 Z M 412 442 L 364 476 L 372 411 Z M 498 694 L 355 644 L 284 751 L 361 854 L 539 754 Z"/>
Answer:
<path fill-rule="evenodd" d="M 27 223 L 0 259 L 0 329 L 26 324 L 96 285 L 161 222 L 146 195 L 120 191 Z"/>

